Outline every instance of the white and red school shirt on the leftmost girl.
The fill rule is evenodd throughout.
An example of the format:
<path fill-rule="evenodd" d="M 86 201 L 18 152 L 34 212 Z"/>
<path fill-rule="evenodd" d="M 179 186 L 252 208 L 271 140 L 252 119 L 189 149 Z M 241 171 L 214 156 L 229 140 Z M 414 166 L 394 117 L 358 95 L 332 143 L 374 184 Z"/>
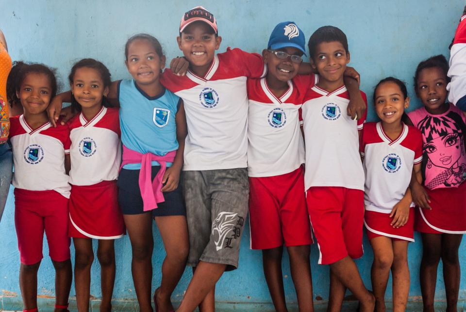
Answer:
<path fill-rule="evenodd" d="M 65 173 L 65 154 L 69 154 L 69 129 L 49 122 L 33 129 L 24 115 L 10 118 L 13 148 L 14 187 L 45 191 L 55 190 L 69 198 L 71 186 Z"/>

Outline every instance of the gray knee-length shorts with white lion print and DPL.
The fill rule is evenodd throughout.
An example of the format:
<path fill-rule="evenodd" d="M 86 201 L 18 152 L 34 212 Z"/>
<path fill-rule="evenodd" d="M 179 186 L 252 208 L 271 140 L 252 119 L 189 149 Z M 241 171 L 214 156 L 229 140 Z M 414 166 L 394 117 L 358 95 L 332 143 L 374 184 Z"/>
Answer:
<path fill-rule="evenodd" d="M 239 244 L 248 214 L 247 168 L 184 171 L 189 233 L 188 265 L 199 261 L 238 267 Z"/>

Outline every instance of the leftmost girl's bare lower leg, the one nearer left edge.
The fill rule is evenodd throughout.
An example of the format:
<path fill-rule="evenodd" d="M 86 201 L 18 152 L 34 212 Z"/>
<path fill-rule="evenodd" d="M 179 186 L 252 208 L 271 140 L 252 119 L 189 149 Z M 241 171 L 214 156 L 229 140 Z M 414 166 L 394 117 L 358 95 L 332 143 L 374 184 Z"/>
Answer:
<path fill-rule="evenodd" d="M 19 267 L 19 288 L 23 297 L 24 310 L 37 308 L 37 271 L 40 261 L 33 265 Z"/>

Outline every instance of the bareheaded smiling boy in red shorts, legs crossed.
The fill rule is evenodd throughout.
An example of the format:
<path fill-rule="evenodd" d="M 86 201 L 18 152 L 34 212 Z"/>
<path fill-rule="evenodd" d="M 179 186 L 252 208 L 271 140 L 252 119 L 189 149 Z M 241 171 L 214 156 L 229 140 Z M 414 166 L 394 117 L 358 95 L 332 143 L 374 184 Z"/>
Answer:
<path fill-rule="evenodd" d="M 373 311 L 374 296 L 366 290 L 352 260 L 363 255 L 364 170 L 358 130 L 366 116 L 356 122 L 343 113 L 349 103 L 343 82 L 350 62 L 348 41 L 340 29 L 324 26 L 312 34 L 308 46 L 320 77 L 302 106 L 304 183 L 319 264 L 331 269 L 327 311 L 341 310 L 346 288 L 361 302 L 361 311 Z"/>

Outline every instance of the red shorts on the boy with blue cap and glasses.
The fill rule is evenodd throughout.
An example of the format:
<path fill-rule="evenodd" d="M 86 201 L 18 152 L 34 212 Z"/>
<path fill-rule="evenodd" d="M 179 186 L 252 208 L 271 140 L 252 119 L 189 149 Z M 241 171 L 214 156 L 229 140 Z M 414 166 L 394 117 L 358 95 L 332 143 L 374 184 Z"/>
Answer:
<path fill-rule="evenodd" d="M 249 178 L 251 249 L 312 244 L 302 168 Z"/>

